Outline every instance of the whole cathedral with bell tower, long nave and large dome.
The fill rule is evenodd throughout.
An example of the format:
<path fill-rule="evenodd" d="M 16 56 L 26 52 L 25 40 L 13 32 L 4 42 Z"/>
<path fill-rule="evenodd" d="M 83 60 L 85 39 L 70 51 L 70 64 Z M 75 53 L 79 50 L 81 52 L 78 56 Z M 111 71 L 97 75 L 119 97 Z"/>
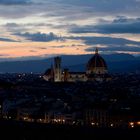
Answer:
<path fill-rule="evenodd" d="M 54 58 L 54 66 L 48 69 L 44 74 L 46 81 L 54 82 L 86 82 L 86 81 L 108 81 L 107 64 L 98 53 L 96 48 L 94 56 L 88 61 L 85 72 L 70 72 L 69 69 L 62 69 L 61 58 Z"/>

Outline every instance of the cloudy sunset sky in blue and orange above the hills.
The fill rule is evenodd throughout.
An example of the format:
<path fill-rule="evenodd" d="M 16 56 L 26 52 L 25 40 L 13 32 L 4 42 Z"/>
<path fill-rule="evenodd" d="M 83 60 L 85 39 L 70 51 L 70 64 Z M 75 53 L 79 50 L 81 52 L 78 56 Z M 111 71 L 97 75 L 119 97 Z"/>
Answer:
<path fill-rule="evenodd" d="M 140 0 L 0 0 L 0 60 L 140 55 Z"/>

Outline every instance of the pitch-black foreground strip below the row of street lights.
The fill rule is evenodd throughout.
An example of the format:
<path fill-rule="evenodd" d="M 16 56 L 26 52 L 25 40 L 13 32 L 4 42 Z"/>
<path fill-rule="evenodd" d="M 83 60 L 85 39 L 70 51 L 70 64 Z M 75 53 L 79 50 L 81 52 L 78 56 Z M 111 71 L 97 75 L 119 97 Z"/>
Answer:
<path fill-rule="evenodd" d="M 107 129 L 80 126 L 46 125 L 25 122 L 0 121 L 0 139 L 3 140 L 119 140 L 139 138 L 140 128 Z"/>

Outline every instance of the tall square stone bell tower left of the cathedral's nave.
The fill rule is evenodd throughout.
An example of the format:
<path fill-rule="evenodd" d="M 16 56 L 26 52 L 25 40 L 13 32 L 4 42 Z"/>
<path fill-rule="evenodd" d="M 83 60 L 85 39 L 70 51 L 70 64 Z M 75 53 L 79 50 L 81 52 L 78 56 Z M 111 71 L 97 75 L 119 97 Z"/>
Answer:
<path fill-rule="evenodd" d="M 54 58 L 54 81 L 61 82 L 61 58 Z"/>

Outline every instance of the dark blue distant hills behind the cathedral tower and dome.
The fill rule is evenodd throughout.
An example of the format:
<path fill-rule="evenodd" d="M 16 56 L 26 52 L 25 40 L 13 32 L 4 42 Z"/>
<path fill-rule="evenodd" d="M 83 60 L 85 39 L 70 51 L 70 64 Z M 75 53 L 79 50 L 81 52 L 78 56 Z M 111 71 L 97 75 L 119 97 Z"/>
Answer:
<path fill-rule="evenodd" d="M 92 57 L 89 55 L 63 55 L 62 66 L 71 71 L 85 71 L 86 63 Z M 140 57 L 130 54 L 102 55 L 108 64 L 110 72 L 130 72 L 140 70 Z M 28 61 L 0 62 L 1 73 L 43 73 L 53 63 L 53 58 Z"/>

